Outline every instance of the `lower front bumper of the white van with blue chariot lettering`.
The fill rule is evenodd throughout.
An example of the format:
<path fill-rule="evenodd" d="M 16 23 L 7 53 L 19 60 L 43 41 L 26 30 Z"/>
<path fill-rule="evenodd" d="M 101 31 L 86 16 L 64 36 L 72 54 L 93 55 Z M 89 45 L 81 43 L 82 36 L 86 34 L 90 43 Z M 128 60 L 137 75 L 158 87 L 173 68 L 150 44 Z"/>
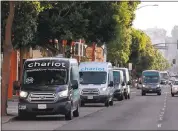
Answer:
<path fill-rule="evenodd" d="M 84 102 L 84 103 L 105 103 L 109 99 L 109 96 L 98 95 L 98 96 L 93 96 L 93 98 L 91 98 L 90 96 L 80 95 L 80 99 L 81 99 L 81 102 Z"/>

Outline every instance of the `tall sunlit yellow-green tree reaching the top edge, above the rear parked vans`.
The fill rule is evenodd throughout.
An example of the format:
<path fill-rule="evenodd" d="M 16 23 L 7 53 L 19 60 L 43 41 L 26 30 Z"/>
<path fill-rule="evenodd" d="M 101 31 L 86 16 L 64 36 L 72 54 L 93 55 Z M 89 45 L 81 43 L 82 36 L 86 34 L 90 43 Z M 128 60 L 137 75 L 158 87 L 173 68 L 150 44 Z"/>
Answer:
<path fill-rule="evenodd" d="M 108 59 L 121 66 L 126 65 L 130 56 L 131 26 L 134 11 L 140 2 L 113 2 L 113 19 L 116 21 L 115 38 L 109 43 Z"/>

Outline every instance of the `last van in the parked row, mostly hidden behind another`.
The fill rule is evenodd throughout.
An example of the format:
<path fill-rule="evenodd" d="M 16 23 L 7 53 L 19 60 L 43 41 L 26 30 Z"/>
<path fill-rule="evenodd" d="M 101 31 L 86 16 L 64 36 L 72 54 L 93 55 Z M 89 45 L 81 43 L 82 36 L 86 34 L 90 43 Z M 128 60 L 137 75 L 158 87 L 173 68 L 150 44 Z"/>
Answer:
<path fill-rule="evenodd" d="M 130 75 L 129 75 L 129 69 L 128 68 L 117 68 L 115 70 L 120 70 L 123 71 L 123 75 L 124 75 L 124 82 L 125 82 L 125 86 L 124 86 L 124 97 L 125 99 L 130 99 Z"/>

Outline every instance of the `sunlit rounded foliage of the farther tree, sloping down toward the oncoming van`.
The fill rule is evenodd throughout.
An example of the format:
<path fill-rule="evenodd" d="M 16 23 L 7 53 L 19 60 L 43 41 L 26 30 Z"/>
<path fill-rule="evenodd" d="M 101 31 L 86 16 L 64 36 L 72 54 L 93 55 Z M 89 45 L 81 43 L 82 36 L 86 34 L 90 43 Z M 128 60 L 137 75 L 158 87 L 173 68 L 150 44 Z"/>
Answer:
<path fill-rule="evenodd" d="M 131 35 L 130 61 L 138 74 L 146 69 L 165 70 L 169 67 L 168 61 L 153 47 L 149 36 L 136 29 L 132 29 Z"/>

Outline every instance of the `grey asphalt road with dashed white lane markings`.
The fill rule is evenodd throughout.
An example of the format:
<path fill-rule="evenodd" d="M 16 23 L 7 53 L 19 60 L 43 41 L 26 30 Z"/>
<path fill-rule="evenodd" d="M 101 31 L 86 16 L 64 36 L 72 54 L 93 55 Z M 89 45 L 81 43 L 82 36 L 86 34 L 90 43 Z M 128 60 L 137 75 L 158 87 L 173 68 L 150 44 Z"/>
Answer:
<path fill-rule="evenodd" d="M 162 95 L 141 96 L 133 90 L 130 100 L 115 102 L 113 107 L 95 105 L 81 108 L 79 118 L 39 117 L 35 120 L 2 125 L 2 130 L 177 130 L 178 97 L 171 97 L 170 88 Z"/>

